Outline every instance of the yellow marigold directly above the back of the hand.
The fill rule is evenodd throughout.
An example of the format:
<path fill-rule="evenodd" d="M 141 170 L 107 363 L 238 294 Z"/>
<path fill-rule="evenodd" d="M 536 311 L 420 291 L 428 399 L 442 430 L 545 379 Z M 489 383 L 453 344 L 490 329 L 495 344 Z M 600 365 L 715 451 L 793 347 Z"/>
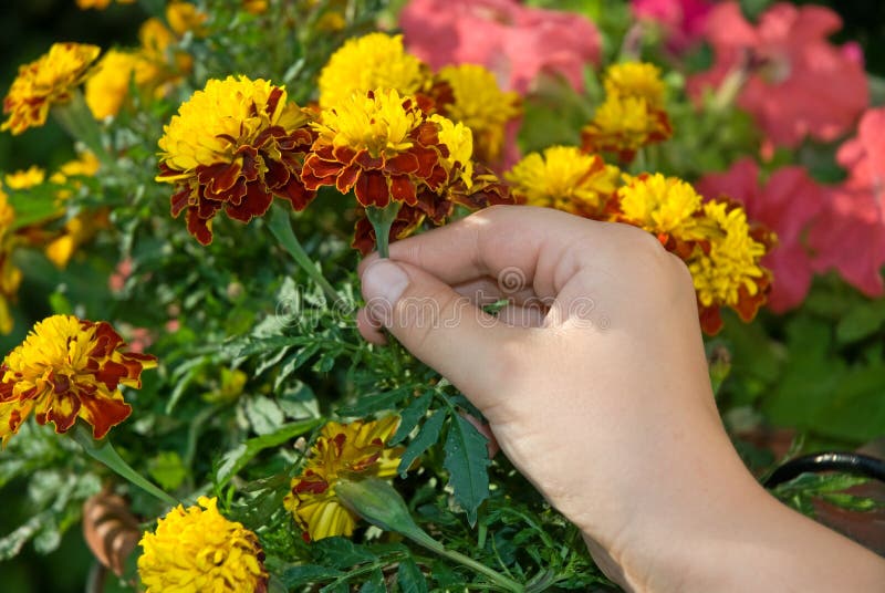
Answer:
<path fill-rule="evenodd" d="M 504 173 L 518 200 L 530 206 L 598 217 L 617 189 L 620 171 L 573 146 L 531 153 Z"/>

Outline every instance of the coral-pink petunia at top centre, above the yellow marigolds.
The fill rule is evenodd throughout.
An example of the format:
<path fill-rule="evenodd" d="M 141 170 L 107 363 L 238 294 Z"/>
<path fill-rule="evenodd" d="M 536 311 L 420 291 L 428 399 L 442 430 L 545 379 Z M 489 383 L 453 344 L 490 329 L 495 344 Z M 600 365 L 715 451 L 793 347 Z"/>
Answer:
<path fill-rule="evenodd" d="M 503 89 L 520 93 L 542 72 L 581 92 L 584 66 L 600 61 L 600 33 L 590 20 L 516 0 L 412 0 L 399 24 L 408 50 L 434 69 L 482 64 Z"/>

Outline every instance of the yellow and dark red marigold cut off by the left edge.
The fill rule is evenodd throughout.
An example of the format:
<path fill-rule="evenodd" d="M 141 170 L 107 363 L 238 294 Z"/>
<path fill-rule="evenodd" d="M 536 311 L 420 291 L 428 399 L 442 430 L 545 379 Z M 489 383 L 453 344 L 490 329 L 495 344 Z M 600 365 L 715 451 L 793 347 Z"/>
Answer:
<path fill-rule="evenodd" d="M 123 339 L 106 322 L 53 315 L 38 322 L 0 365 L 0 436 L 6 444 L 31 412 L 52 422 L 56 433 L 77 417 L 102 438 L 132 412 L 121 385 L 142 386 L 142 371 L 154 356 L 125 352 Z"/>

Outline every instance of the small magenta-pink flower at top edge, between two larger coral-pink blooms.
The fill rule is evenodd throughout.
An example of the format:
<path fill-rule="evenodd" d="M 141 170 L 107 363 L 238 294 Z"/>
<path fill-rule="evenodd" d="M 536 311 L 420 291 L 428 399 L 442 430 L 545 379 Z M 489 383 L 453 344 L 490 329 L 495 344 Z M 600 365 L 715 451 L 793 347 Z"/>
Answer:
<path fill-rule="evenodd" d="M 633 0 L 633 14 L 658 23 L 667 38 L 667 48 L 681 53 L 699 41 L 712 9 L 710 0 Z"/>

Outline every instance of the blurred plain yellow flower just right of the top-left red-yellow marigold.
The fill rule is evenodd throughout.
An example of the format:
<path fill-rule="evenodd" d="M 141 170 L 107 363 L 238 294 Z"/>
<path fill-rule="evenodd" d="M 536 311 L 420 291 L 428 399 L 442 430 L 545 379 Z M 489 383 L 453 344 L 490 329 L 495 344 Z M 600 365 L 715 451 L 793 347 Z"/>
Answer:
<path fill-rule="evenodd" d="M 114 116 L 129 94 L 129 82 L 144 86 L 155 77 L 156 67 L 135 52 L 108 50 L 86 80 L 86 105 L 96 119 Z"/>

